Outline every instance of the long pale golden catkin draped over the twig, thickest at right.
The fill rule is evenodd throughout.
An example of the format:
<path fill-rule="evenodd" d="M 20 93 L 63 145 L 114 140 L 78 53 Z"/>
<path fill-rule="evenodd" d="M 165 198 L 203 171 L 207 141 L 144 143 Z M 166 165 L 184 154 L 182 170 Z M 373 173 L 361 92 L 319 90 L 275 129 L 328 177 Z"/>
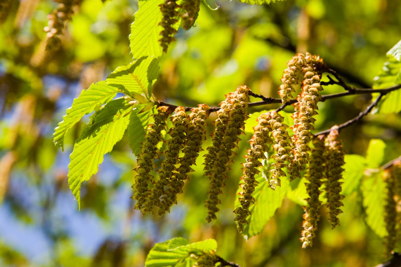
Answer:
<path fill-rule="evenodd" d="M 290 180 L 300 177 L 300 172 L 305 169 L 304 164 L 308 163 L 310 151 L 309 141 L 312 137 L 310 130 L 313 130 L 314 115 L 318 114 L 317 103 L 322 100 L 320 91 L 323 90 L 320 85 L 321 74 L 325 68 L 325 64 L 319 56 L 310 53 L 297 54 L 299 64 L 301 65 L 301 73 L 304 80 L 302 81 L 302 92 L 298 94 L 298 102 L 294 104 L 295 112 L 292 115 L 294 125 L 292 130 L 293 150 L 291 155 L 291 163 L 288 166 L 288 174 Z"/>

